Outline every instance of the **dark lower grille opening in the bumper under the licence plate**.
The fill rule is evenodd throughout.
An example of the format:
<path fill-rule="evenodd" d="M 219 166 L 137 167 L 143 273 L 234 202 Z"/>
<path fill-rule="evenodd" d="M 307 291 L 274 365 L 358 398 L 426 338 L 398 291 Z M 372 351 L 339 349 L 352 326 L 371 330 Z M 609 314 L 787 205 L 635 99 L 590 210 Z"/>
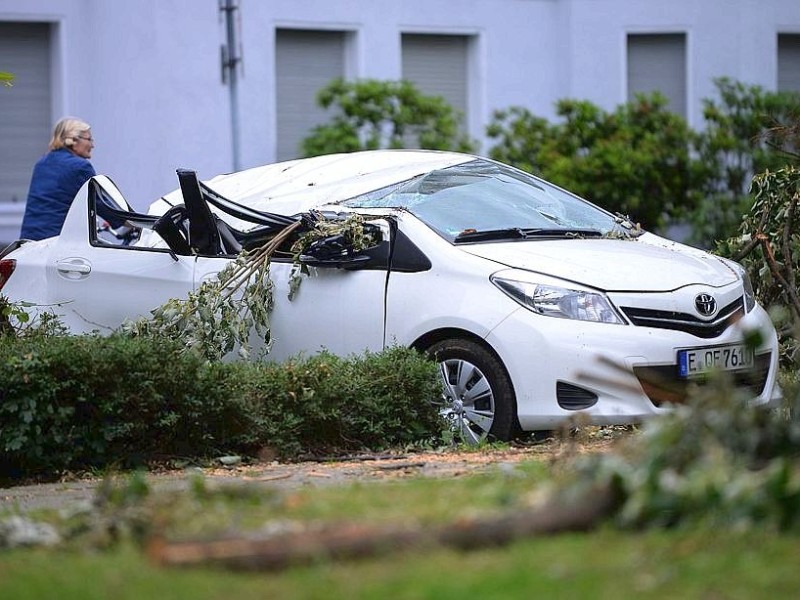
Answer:
<path fill-rule="evenodd" d="M 749 390 L 753 397 L 761 395 L 769 376 L 769 365 L 772 354 L 758 354 L 755 365 L 746 371 L 731 373 L 736 387 Z M 633 372 L 639 379 L 644 393 L 656 406 L 665 404 L 684 404 L 689 397 L 689 385 L 704 385 L 706 379 L 686 379 L 678 376 L 677 365 L 659 367 L 634 367 Z"/>

